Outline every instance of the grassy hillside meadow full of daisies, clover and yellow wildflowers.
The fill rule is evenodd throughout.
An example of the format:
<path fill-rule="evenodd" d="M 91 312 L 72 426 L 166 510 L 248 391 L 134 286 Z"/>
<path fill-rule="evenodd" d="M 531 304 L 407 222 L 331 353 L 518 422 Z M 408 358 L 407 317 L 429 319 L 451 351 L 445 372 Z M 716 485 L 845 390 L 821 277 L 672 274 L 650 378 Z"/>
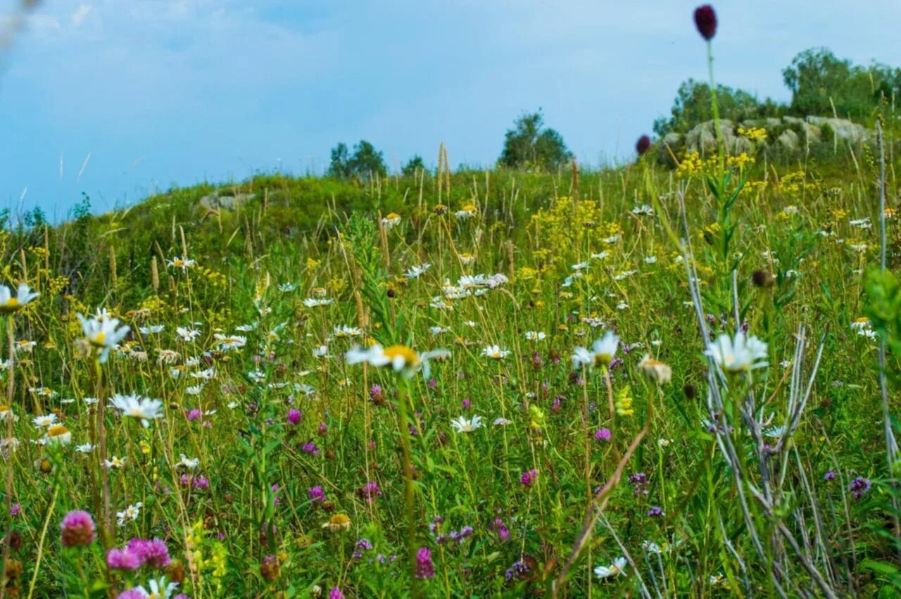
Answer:
<path fill-rule="evenodd" d="M 896 596 L 893 121 L 7 227 L 0 597 Z"/>

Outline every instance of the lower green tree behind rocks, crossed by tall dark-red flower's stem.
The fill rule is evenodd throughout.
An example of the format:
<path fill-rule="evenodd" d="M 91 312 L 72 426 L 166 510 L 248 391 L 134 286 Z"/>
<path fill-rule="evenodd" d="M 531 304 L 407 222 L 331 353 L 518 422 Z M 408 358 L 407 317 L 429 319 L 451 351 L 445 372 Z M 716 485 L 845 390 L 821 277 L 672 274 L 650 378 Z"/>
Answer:
<path fill-rule="evenodd" d="M 731 121 L 777 116 L 785 110 L 784 106 L 769 98 L 760 103 L 751 92 L 722 85 L 716 86 L 716 104 L 719 106 L 720 118 Z M 710 86 L 694 79 L 682 82 L 669 112 L 669 118 L 661 116 L 654 121 L 654 132 L 660 137 L 669 132 L 684 133 L 697 123 L 710 121 L 714 118 L 710 104 Z"/>

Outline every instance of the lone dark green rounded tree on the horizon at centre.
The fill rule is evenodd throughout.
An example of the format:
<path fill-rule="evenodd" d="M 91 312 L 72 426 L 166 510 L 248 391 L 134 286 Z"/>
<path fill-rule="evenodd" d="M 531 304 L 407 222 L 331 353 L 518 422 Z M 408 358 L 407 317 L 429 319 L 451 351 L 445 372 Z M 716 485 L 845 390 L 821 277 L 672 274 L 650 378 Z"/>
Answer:
<path fill-rule="evenodd" d="M 504 150 L 498 163 L 507 168 L 555 169 L 572 159 L 563 136 L 542 128 L 542 111 L 523 113 L 504 136 Z"/>

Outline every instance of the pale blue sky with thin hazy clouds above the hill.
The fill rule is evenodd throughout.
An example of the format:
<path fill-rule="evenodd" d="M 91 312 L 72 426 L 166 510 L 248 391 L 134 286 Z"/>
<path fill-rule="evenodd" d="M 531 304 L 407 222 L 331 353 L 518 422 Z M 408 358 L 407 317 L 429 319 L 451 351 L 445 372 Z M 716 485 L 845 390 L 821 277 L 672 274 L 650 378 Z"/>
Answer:
<path fill-rule="evenodd" d="M 632 158 L 679 83 L 705 80 L 696 1 L 0 0 L 0 207 L 67 216 L 172 186 L 321 172 L 361 139 L 490 166 L 539 108 L 587 166 Z M 787 100 L 827 46 L 901 65 L 896 0 L 715 3 L 719 83 Z"/>

